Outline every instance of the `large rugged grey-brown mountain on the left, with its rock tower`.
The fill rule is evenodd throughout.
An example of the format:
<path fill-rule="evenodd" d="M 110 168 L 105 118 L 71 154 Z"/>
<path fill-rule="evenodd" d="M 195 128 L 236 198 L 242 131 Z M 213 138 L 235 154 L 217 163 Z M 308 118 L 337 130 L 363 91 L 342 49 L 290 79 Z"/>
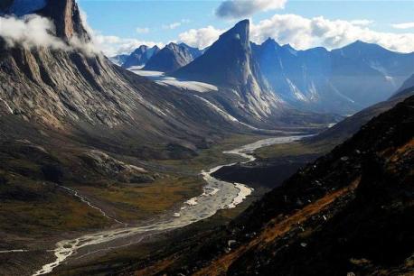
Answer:
<path fill-rule="evenodd" d="M 90 151 L 135 161 L 181 159 L 227 134 L 251 131 L 201 97 L 157 85 L 82 49 L 89 34 L 74 1 L 50 0 L 37 13 L 54 23 L 51 35 L 61 47 L 27 48 L 0 38 L 0 173 L 5 178 L 42 181 L 53 168 L 60 171 L 60 182 L 88 186 L 97 170 L 85 161 Z M 108 171 L 118 171 L 117 166 Z M 101 180 L 118 172 L 110 175 Z"/>

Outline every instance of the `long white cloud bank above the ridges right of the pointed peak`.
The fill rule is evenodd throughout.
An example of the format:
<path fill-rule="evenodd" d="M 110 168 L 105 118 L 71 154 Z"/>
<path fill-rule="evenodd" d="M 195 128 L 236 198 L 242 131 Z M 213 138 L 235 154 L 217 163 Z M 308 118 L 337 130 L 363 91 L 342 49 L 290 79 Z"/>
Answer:
<path fill-rule="evenodd" d="M 274 38 L 289 43 L 296 49 L 324 46 L 327 49 L 343 47 L 361 40 L 380 44 L 392 51 L 414 51 L 414 33 L 377 32 L 362 23 L 329 20 L 323 16 L 306 18 L 296 14 L 275 14 L 273 17 L 251 24 L 251 40 L 261 43 Z"/>

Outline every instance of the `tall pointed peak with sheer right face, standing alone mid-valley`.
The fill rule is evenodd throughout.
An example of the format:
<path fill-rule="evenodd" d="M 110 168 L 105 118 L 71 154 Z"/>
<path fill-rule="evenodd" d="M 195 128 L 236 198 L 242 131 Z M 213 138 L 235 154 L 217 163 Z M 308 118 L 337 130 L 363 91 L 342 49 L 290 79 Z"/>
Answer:
<path fill-rule="evenodd" d="M 249 20 L 237 23 L 231 30 L 221 34 L 218 41 L 198 59 L 172 73 L 177 78 L 211 83 L 222 87 L 221 97 L 231 98 L 233 105 L 257 118 L 280 114 L 282 103 L 274 94 L 268 93 L 259 68 L 253 60 L 249 42 Z M 227 94 L 227 95 L 224 95 Z M 237 105 L 237 104 L 236 104 Z"/>

